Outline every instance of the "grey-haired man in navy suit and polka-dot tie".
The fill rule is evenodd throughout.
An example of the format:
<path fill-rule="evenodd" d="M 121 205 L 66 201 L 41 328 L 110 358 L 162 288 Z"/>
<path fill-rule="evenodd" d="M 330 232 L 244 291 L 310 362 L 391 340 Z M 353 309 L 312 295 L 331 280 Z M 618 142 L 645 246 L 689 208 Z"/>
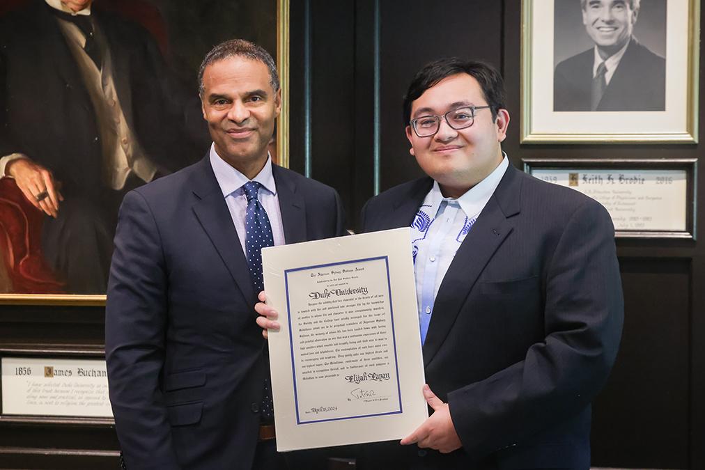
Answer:
<path fill-rule="evenodd" d="M 116 430 L 130 470 L 286 468 L 254 321 L 252 236 L 333 237 L 343 211 L 331 187 L 269 158 L 281 90 L 264 49 L 219 44 L 200 85 L 209 153 L 129 192 L 119 214 L 106 304 Z M 255 219 L 266 230 L 251 232 Z"/>

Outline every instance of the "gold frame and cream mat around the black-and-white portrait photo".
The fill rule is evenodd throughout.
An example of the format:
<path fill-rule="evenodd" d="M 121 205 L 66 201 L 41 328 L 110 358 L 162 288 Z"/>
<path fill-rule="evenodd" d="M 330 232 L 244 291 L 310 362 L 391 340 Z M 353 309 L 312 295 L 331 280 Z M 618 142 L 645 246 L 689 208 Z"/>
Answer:
<path fill-rule="evenodd" d="M 649 18 L 646 10 L 649 1 L 660 2 L 661 23 L 659 18 Z M 566 6 L 574 10 L 565 20 L 570 23 L 568 32 L 565 32 L 565 25 L 556 24 L 556 18 L 563 21 L 560 13 Z M 562 104 L 557 106 L 554 102 L 554 92 L 558 91 L 554 88 L 558 75 L 554 74 L 558 74 L 556 66 L 565 58 L 565 54 L 561 56 L 558 51 L 565 53 L 568 44 L 575 49 L 571 54 L 577 57 L 580 52 L 584 52 L 580 54 L 583 56 L 592 54 L 586 44 L 594 49 L 581 18 L 580 0 L 522 0 L 520 143 L 698 142 L 700 1 L 642 0 L 640 9 L 633 37 L 644 43 L 639 38 L 639 21 L 645 17 L 642 31 L 646 32 L 642 37 L 648 40 L 642 44 L 642 49 L 649 48 L 649 42 L 656 43 L 658 48 L 654 54 L 665 58 L 663 109 L 646 106 L 645 110 L 623 111 L 613 106 L 616 109 L 591 111 L 588 104 L 587 109 L 578 106 L 565 111 L 561 109 Z M 651 16 L 654 16 L 653 9 Z M 570 35 L 570 40 L 557 39 L 558 32 Z M 619 71 L 613 73 L 616 75 Z M 648 75 L 642 74 L 642 78 Z M 635 87 L 642 81 L 632 80 Z M 589 101 L 589 90 L 587 94 Z"/>

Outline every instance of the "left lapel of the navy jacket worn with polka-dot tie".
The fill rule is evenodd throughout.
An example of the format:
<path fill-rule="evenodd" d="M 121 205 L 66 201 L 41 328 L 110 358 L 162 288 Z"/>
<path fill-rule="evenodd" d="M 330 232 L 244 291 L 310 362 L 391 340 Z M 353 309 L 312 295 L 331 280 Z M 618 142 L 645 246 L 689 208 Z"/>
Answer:
<path fill-rule="evenodd" d="M 245 300 L 254 305 L 257 302 L 257 292 L 252 286 L 247 259 L 208 155 L 197 163 L 192 183 L 196 197 L 193 211 L 198 221 L 216 247 Z"/>

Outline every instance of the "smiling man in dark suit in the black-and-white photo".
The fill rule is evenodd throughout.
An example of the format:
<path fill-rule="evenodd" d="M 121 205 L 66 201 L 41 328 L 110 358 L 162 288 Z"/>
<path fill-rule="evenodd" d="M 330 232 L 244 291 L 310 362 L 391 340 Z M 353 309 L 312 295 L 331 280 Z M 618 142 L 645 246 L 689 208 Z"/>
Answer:
<path fill-rule="evenodd" d="M 553 111 L 664 111 L 666 60 L 632 35 L 639 0 L 581 0 L 595 47 L 553 75 Z"/>

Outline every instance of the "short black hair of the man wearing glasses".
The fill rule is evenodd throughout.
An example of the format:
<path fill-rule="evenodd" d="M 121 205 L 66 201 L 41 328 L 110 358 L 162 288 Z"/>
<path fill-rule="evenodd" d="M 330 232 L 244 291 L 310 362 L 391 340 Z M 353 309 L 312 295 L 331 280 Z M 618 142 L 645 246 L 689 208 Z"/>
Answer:
<path fill-rule="evenodd" d="M 409 125 L 411 105 L 416 99 L 444 78 L 458 75 L 458 73 L 467 73 L 467 75 L 477 80 L 480 88 L 482 88 L 484 99 L 491 106 L 492 120 L 495 120 L 497 111 L 505 108 L 506 92 L 504 91 L 502 76 L 496 68 L 487 63 L 448 57 L 427 63 L 411 81 L 411 85 L 409 85 L 404 97 L 404 125 Z"/>

